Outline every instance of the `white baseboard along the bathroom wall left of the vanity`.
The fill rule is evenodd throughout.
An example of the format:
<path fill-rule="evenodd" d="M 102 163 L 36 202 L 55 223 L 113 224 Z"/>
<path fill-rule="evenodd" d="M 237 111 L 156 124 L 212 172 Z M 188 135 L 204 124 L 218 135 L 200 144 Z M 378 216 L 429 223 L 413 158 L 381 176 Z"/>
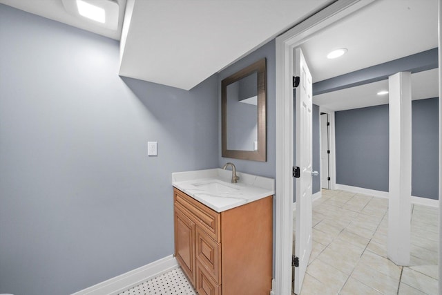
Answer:
<path fill-rule="evenodd" d="M 173 255 L 166 256 L 153 263 L 138 267 L 130 272 L 126 272 L 126 274 L 115 276 L 115 278 L 110 278 L 71 295 L 116 295 L 136 285 L 140 285 L 140 283 L 146 280 L 169 272 L 176 267 L 178 267 L 178 263 L 175 257 Z"/>

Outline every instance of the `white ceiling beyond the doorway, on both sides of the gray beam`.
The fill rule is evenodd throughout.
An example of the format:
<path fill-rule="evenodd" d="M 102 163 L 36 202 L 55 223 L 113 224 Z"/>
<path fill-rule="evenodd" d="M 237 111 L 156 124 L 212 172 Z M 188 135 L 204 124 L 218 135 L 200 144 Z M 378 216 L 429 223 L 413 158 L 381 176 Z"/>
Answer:
<path fill-rule="evenodd" d="M 437 0 L 378 0 L 311 37 L 301 48 L 314 82 L 382 64 L 438 46 Z M 329 51 L 347 48 L 338 59 Z M 314 104 L 332 111 L 387 104 L 388 81 L 314 96 Z M 412 75 L 412 99 L 439 96 L 436 69 Z"/>

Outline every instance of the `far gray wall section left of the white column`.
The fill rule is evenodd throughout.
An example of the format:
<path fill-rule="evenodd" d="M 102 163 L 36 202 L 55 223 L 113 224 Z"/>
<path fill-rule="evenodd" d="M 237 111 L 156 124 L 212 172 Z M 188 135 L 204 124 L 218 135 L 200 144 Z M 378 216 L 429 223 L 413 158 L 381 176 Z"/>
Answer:
<path fill-rule="evenodd" d="M 335 113 L 336 183 L 388 191 L 388 105 Z"/>

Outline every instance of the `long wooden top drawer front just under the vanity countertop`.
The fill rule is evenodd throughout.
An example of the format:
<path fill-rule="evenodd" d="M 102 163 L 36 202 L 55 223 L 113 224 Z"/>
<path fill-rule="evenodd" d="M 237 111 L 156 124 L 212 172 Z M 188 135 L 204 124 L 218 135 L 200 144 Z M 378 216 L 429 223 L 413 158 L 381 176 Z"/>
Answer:
<path fill-rule="evenodd" d="M 213 211 L 178 189 L 173 189 L 173 191 L 175 206 L 178 204 L 181 205 L 180 209 L 184 207 L 190 211 L 195 216 L 195 222 L 204 229 L 206 234 L 216 242 L 220 242 L 220 213 Z"/>

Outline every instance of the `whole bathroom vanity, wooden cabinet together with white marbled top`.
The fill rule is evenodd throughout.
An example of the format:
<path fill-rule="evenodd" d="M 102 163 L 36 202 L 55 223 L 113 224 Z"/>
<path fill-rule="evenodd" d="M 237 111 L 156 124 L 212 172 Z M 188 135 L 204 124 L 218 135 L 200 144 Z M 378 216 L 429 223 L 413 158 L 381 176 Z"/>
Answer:
<path fill-rule="evenodd" d="M 175 257 L 199 294 L 269 294 L 274 180 L 209 169 L 173 173 Z"/>

